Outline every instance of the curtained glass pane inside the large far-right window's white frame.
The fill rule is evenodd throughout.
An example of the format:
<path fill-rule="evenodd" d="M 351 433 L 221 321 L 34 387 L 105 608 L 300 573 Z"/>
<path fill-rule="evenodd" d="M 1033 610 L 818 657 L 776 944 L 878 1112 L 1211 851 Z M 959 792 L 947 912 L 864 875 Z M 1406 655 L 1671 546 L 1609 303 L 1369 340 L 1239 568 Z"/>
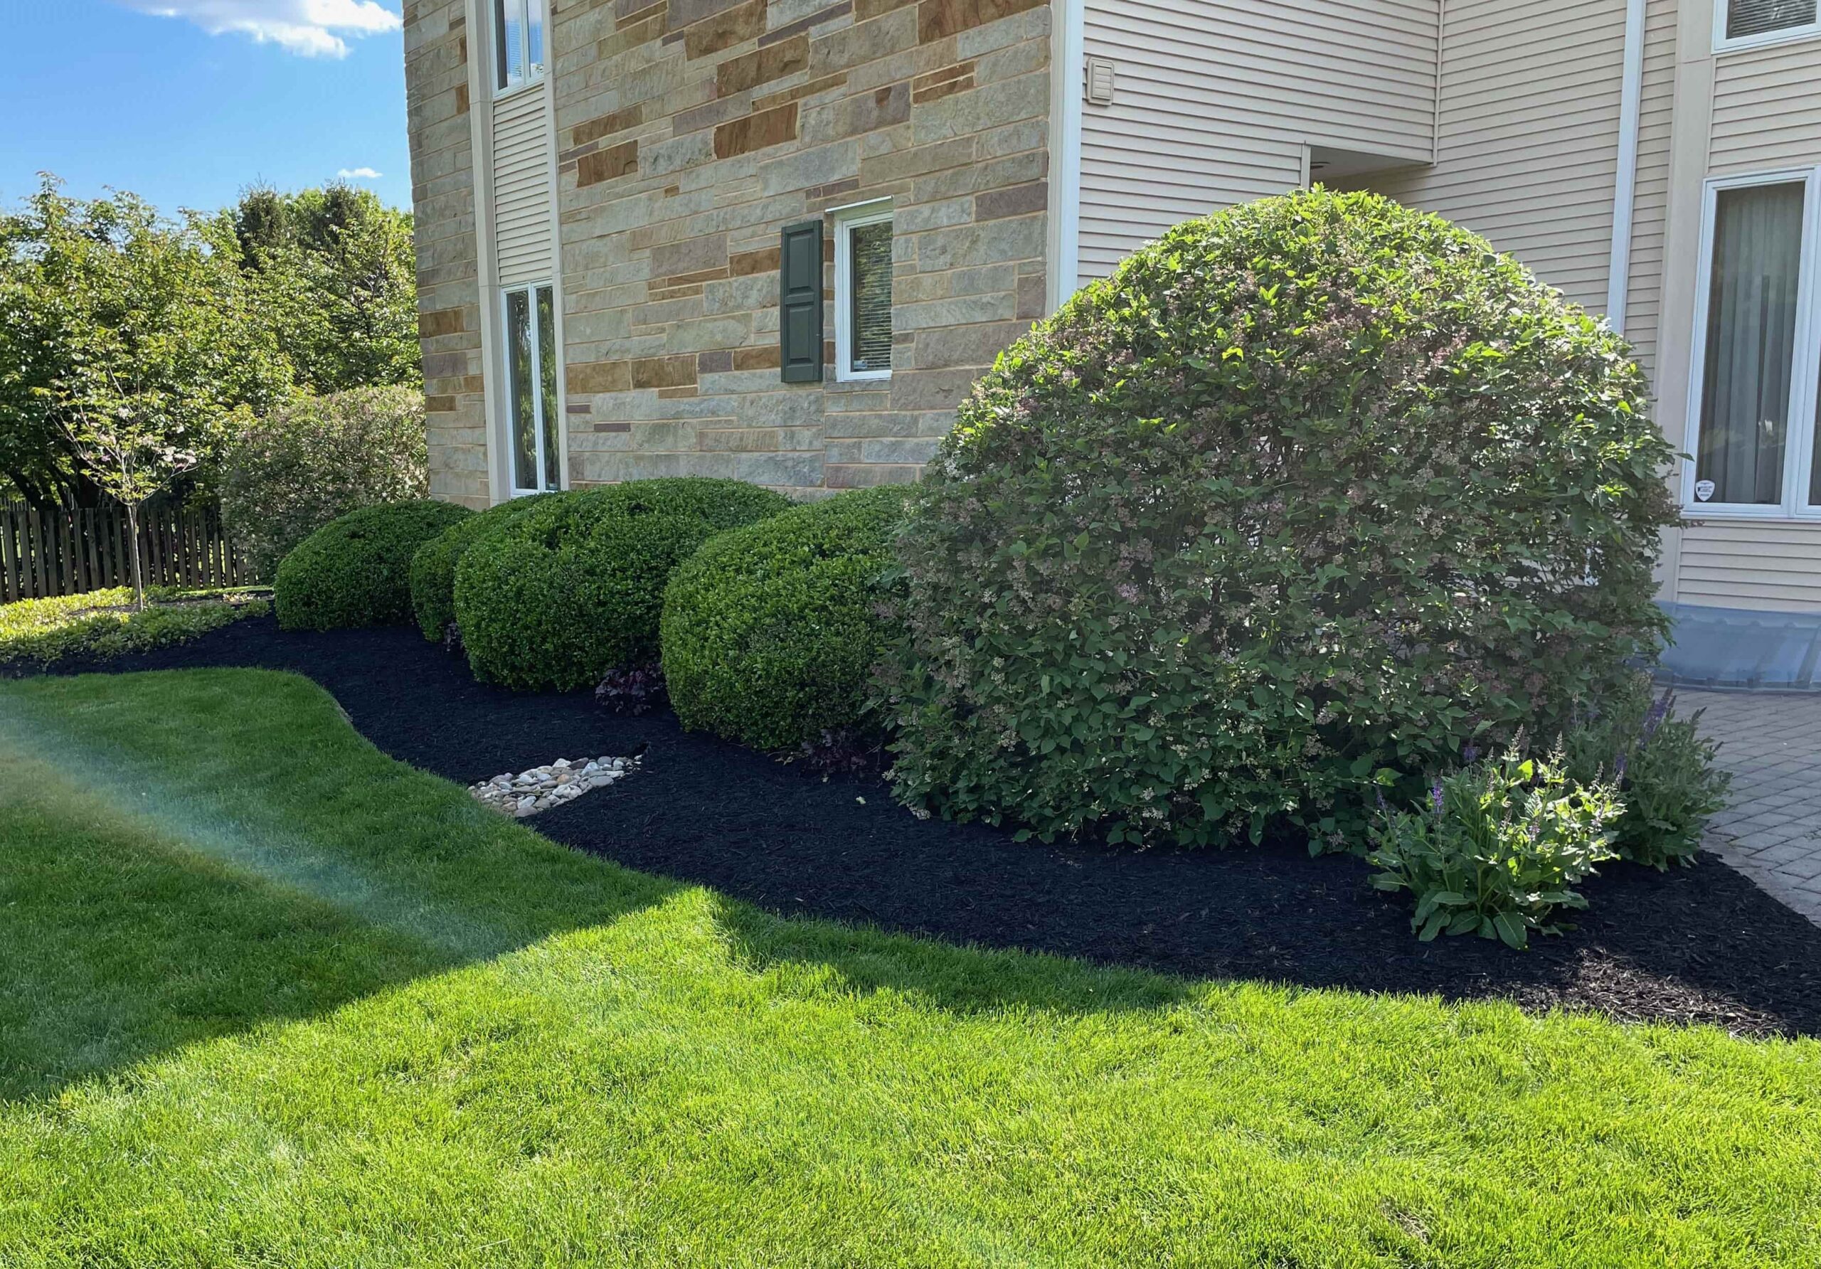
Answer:
<path fill-rule="evenodd" d="M 1803 193 L 1801 182 L 1715 193 L 1697 503 L 1783 503 Z"/>

